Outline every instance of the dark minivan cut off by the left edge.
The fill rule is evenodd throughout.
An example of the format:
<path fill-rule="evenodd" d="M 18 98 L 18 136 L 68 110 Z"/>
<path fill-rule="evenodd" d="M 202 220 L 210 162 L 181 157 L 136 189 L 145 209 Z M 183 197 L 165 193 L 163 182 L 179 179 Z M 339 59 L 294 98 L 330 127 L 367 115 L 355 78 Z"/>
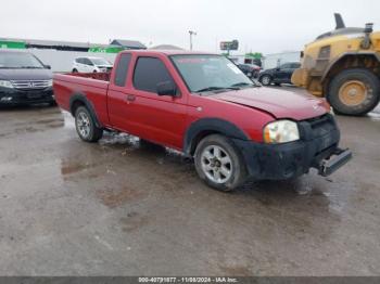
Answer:
<path fill-rule="evenodd" d="M 28 52 L 0 50 L 0 104 L 54 104 L 52 72 Z"/>

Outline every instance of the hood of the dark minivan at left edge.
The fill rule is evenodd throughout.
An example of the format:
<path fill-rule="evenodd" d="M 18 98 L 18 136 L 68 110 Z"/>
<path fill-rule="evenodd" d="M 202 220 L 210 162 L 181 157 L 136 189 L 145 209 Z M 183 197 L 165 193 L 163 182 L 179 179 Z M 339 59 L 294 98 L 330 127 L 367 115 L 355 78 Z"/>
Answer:
<path fill-rule="evenodd" d="M 0 80 L 49 80 L 53 75 L 49 69 L 1 69 Z"/>

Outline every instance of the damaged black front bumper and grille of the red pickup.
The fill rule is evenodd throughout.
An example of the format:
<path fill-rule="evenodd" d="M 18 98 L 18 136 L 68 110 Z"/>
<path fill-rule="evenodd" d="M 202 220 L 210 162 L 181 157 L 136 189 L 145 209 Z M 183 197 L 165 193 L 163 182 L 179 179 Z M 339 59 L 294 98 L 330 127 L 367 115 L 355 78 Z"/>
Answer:
<path fill-rule="evenodd" d="M 299 124 L 301 139 L 284 144 L 235 140 L 255 180 L 286 180 L 307 173 L 311 168 L 329 176 L 352 158 L 338 147 L 340 132 L 331 115 Z"/>

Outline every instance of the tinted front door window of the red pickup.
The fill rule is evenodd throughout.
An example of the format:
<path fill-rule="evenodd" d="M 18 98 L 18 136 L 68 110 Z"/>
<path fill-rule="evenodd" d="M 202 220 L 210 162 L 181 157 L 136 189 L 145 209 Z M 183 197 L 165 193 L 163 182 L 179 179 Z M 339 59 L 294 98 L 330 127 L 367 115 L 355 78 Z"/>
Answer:
<path fill-rule="evenodd" d="M 156 93 L 157 85 L 174 80 L 166 69 L 164 63 L 155 57 L 139 57 L 134 75 L 134 86 L 136 89 Z"/>

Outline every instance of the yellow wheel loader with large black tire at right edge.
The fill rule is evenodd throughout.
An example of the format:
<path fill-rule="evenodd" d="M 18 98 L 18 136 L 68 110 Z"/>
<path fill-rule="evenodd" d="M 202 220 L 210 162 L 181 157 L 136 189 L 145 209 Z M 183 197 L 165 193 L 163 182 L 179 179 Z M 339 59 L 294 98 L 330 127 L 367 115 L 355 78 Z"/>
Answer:
<path fill-rule="evenodd" d="M 337 114 L 364 115 L 380 99 L 380 31 L 345 27 L 334 14 L 334 30 L 320 35 L 301 52 L 302 65 L 292 82 L 325 96 Z"/>

